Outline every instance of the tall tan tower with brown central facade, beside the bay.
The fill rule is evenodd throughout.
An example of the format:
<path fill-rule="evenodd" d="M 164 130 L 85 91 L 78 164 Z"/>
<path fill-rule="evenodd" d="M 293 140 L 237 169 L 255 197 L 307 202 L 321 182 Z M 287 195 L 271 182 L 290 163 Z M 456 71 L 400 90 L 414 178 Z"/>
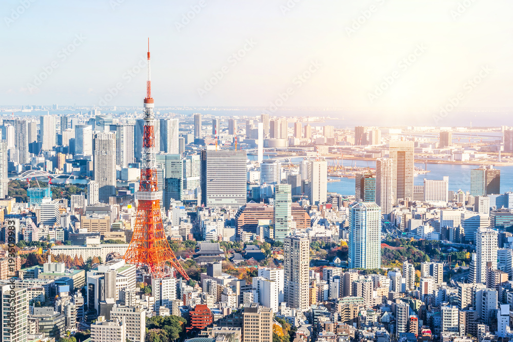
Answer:
<path fill-rule="evenodd" d="M 393 162 L 392 189 L 394 199 L 413 199 L 413 146 L 412 141 L 390 142 L 389 154 Z"/>

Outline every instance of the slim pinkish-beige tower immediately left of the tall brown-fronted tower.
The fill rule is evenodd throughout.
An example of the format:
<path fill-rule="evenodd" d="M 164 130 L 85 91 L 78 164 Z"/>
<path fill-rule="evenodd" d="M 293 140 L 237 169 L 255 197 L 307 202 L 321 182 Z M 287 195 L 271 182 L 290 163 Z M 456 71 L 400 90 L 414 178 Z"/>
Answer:
<path fill-rule="evenodd" d="M 376 204 L 380 206 L 385 217 L 390 214 L 395 203 L 392 191 L 392 166 L 390 158 L 376 159 Z"/>

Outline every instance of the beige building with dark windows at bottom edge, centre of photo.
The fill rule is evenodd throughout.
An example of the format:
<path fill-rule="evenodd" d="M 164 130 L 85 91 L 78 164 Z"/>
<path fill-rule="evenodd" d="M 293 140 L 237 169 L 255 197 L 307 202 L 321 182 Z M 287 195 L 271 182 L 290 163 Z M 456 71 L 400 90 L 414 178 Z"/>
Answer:
<path fill-rule="evenodd" d="M 272 342 L 271 308 L 258 304 L 250 304 L 244 307 L 242 313 L 242 340 L 244 342 Z"/>

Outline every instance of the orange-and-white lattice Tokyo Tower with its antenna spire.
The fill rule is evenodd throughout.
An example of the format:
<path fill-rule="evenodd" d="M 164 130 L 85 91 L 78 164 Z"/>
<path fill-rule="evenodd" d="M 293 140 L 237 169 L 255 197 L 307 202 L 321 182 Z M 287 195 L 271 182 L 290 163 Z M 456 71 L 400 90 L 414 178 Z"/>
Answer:
<path fill-rule="evenodd" d="M 153 114 L 153 107 L 150 78 L 150 43 L 148 38 L 148 81 L 146 81 L 146 98 L 144 99 L 141 180 L 139 191 L 135 193 L 139 205 L 137 206 L 132 240 L 123 258 L 127 264 L 148 267 L 153 278 L 163 278 L 169 275 L 166 272 L 166 262 L 168 262 L 182 277 L 189 280 L 189 276 L 169 247 L 162 225 L 160 208 L 162 191 L 157 187 L 155 114 Z"/>

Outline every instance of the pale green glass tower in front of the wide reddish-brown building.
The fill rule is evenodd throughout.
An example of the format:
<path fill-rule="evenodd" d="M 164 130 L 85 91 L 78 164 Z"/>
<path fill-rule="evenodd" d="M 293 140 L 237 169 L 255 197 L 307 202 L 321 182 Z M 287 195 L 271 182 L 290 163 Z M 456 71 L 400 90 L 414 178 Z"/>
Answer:
<path fill-rule="evenodd" d="M 290 235 L 292 197 L 288 184 L 278 184 L 274 192 L 274 240 L 283 242 Z"/>

